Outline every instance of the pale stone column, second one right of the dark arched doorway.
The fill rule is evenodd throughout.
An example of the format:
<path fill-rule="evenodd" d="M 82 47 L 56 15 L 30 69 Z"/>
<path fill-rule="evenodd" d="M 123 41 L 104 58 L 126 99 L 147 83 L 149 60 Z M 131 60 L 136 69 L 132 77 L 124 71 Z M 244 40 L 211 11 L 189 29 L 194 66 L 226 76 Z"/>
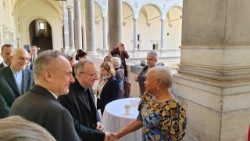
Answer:
<path fill-rule="evenodd" d="M 81 1 L 74 0 L 75 49 L 82 48 Z"/>

